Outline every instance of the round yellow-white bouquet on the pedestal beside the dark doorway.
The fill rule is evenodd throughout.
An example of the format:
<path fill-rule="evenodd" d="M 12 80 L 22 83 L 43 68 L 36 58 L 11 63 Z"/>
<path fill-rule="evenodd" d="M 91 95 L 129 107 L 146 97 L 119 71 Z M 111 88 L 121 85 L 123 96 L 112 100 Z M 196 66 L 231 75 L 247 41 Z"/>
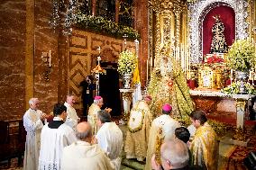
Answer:
<path fill-rule="evenodd" d="M 126 49 L 119 55 L 117 71 L 122 75 L 124 73 L 133 73 L 136 64 L 137 58 L 135 54 Z"/>

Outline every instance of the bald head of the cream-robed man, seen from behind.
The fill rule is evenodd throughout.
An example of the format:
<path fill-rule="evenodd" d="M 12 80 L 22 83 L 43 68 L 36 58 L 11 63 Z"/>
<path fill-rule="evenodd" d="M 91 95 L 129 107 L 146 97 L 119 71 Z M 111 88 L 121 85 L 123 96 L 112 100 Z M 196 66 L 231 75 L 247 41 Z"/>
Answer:
<path fill-rule="evenodd" d="M 78 123 L 76 128 L 76 136 L 80 140 L 87 140 L 92 138 L 92 128 L 87 121 Z"/>

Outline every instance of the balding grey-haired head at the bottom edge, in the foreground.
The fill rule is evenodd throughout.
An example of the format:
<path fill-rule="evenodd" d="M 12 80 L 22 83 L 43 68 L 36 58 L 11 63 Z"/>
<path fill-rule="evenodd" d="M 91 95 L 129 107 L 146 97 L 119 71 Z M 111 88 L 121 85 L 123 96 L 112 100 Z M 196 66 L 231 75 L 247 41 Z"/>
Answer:
<path fill-rule="evenodd" d="M 175 168 L 185 167 L 189 162 L 187 145 L 179 139 L 169 139 L 161 146 L 160 157 Z"/>

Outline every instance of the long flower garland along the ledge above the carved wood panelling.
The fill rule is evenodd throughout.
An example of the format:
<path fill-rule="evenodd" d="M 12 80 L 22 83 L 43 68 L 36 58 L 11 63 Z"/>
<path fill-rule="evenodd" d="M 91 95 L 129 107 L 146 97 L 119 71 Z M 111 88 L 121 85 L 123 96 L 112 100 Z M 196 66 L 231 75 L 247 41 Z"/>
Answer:
<path fill-rule="evenodd" d="M 101 16 L 87 15 L 79 12 L 76 18 L 76 26 L 82 30 L 93 31 L 114 38 L 123 39 L 123 35 L 126 34 L 128 40 L 140 39 L 140 34 L 133 28 L 107 21 Z"/>

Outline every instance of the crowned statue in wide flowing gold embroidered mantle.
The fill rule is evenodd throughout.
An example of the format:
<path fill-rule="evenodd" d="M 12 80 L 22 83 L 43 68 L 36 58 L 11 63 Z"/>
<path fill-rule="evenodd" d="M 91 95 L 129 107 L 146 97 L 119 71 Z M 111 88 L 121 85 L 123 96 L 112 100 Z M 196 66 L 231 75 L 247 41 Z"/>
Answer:
<path fill-rule="evenodd" d="M 164 103 L 172 105 L 174 119 L 189 123 L 189 114 L 194 110 L 187 79 L 178 61 L 172 56 L 170 43 L 160 50 L 160 66 L 152 71 L 148 86 L 152 97 L 151 110 L 154 116 L 161 113 Z"/>

